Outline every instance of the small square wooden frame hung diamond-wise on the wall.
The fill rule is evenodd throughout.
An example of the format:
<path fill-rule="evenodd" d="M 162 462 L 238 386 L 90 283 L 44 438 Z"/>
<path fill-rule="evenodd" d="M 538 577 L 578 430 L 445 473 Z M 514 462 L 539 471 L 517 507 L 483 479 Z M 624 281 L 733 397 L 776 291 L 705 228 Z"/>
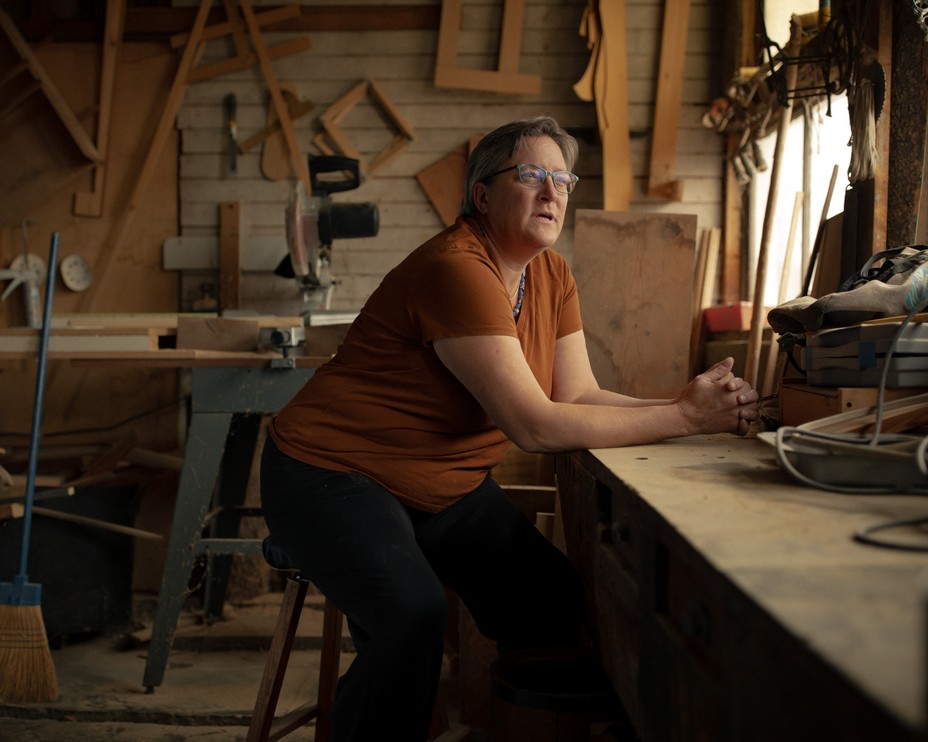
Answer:
<path fill-rule="evenodd" d="M 351 143 L 339 124 L 345 116 L 364 98 L 370 96 L 380 106 L 381 110 L 387 115 L 391 123 L 396 128 L 396 135 L 393 140 L 384 147 L 374 158 L 367 162 L 357 148 Z M 329 142 L 335 145 L 339 153 L 352 157 L 358 161 L 358 167 L 361 175 L 367 177 L 376 172 L 390 160 L 402 152 L 406 146 L 416 138 L 413 128 L 400 115 L 393 103 L 387 98 L 380 86 L 373 80 L 365 80 L 358 83 L 345 95 L 330 105 L 320 116 L 323 131 L 316 134 L 313 143 L 325 154 L 335 154 L 335 150 Z"/>

